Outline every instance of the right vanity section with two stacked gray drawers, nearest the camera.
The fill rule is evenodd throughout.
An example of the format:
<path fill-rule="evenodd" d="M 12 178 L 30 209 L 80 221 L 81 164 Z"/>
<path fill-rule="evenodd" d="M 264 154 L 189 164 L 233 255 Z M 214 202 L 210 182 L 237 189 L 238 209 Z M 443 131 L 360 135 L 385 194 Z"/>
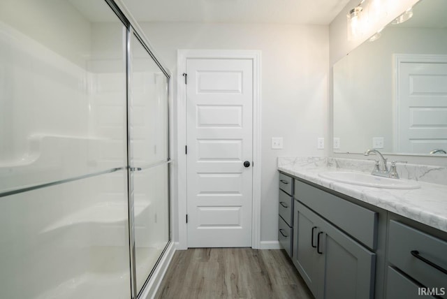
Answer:
<path fill-rule="evenodd" d="M 447 298 L 447 242 L 391 219 L 386 298 L 423 295 Z"/>

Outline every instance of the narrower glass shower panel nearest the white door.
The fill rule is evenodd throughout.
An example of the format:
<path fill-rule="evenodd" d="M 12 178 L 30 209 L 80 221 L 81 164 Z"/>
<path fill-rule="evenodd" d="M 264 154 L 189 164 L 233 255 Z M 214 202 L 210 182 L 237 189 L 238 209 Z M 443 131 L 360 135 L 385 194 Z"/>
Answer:
<path fill-rule="evenodd" d="M 168 77 L 135 35 L 131 48 L 131 199 L 139 293 L 170 240 Z"/>

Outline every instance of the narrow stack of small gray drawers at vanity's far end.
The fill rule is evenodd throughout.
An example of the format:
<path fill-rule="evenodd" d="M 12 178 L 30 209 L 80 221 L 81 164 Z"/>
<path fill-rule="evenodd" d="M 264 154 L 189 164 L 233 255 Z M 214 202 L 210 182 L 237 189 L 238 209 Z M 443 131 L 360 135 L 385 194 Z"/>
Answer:
<path fill-rule="evenodd" d="M 279 173 L 278 241 L 290 257 L 293 254 L 293 184 L 292 177 Z"/>

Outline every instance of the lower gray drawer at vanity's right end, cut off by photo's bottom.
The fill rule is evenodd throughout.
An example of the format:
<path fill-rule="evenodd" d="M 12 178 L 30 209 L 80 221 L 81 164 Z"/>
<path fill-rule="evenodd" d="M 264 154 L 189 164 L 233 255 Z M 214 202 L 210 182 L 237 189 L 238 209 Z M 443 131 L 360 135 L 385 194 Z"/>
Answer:
<path fill-rule="evenodd" d="M 388 279 L 386 283 L 386 299 L 420 299 L 420 286 L 412 282 L 397 270 L 388 267 Z M 423 296 L 423 298 L 434 298 Z"/>

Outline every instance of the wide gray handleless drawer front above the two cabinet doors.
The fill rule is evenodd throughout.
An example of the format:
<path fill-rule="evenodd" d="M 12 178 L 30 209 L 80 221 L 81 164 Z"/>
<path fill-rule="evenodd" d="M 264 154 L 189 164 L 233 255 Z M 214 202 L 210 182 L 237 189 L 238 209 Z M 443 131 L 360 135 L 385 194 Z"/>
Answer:
<path fill-rule="evenodd" d="M 295 180 L 295 198 L 367 247 L 376 249 L 376 212 L 298 180 Z"/>

